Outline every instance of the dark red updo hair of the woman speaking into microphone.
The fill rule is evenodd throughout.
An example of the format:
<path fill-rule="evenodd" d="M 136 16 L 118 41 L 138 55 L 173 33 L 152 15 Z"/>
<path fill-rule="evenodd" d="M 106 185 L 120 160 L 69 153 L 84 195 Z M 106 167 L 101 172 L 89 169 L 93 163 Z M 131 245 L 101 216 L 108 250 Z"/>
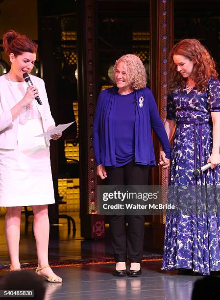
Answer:
<path fill-rule="evenodd" d="M 3 35 L 3 49 L 8 56 L 10 53 L 14 53 L 15 56 L 23 52 L 37 53 L 37 47 L 37 43 L 26 35 L 21 35 L 12 29 Z"/>

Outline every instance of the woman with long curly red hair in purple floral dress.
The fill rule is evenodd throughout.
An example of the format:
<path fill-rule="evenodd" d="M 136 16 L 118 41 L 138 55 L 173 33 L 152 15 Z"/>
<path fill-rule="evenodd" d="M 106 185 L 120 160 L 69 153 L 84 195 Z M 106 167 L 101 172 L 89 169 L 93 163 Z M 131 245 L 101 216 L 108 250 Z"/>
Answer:
<path fill-rule="evenodd" d="M 165 122 L 170 140 L 174 134 L 170 190 L 220 186 L 220 81 L 214 60 L 198 40 L 185 39 L 171 50 L 170 72 Z M 207 162 L 211 168 L 195 176 L 193 171 Z M 215 197 L 200 200 L 205 207 L 206 202 L 217 202 Z M 219 213 L 167 212 L 162 270 L 176 269 L 203 275 L 220 271 Z"/>

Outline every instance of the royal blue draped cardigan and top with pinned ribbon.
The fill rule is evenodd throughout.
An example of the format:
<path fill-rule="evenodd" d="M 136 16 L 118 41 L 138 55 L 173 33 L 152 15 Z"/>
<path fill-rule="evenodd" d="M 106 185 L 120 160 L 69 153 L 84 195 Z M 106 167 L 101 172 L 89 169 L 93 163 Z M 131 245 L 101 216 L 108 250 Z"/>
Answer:
<path fill-rule="evenodd" d="M 120 106 L 122 102 L 119 104 L 118 101 L 124 101 L 124 109 L 122 109 L 122 105 Z M 133 115 L 131 115 L 132 104 Z M 124 115 L 126 115 L 126 118 L 124 118 Z M 127 118 L 128 115 L 131 118 L 130 122 Z M 116 118 L 121 118 L 126 122 L 120 123 Z M 155 166 L 151 126 L 166 153 L 166 157 L 170 158 L 170 143 L 150 89 L 134 90 L 133 93 L 128 95 L 118 94 L 117 87 L 102 91 L 98 97 L 93 125 L 93 146 L 97 165 L 117 167 L 132 159 L 137 164 Z M 132 130 L 132 135 L 128 134 L 127 141 L 129 141 L 129 145 L 126 139 L 119 140 L 118 130 L 121 130 L 121 136 L 126 130 Z M 131 141 L 133 147 L 130 145 Z M 125 151 L 123 150 L 123 143 Z M 120 160 L 119 149 L 123 150 L 120 152 L 123 152 Z M 126 149 L 129 149 L 129 151 L 134 149 L 134 155 L 131 152 L 125 153 Z"/>

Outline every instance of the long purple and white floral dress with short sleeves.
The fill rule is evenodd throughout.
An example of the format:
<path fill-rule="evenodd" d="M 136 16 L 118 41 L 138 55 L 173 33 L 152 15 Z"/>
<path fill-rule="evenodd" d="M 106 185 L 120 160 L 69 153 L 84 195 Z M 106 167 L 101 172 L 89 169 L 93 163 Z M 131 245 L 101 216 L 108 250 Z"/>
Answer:
<path fill-rule="evenodd" d="M 193 175 L 193 171 L 206 164 L 211 155 L 211 112 L 215 111 L 220 111 L 218 79 L 210 78 L 204 93 L 193 89 L 187 94 L 186 89 L 177 89 L 169 97 L 167 119 L 176 120 L 170 188 L 220 186 L 219 166 L 215 170 L 208 169 L 201 176 Z M 209 198 L 209 201 L 215 201 L 215 197 Z M 219 213 L 167 212 L 162 270 L 181 268 L 193 269 L 204 275 L 220 271 Z"/>

